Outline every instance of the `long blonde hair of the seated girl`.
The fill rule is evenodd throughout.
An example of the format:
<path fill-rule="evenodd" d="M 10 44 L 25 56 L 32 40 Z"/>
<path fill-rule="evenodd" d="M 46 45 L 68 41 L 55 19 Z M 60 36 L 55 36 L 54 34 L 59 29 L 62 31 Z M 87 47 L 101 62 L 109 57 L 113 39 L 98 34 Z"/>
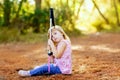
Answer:
<path fill-rule="evenodd" d="M 55 25 L 54 27 L 49 28 L 49 30 L 48 30 L 48 38 L 50 37 L 50 32 L 52 32 L 52 30 L 57 30 L 57 31 L 61 32 L 61 33 L 63 34 L 64 39 L 66 39 L 66 40 L 68 40 L 69 42 L 71 42 L 71 41 L 70 41 L 70 38 L 69 38 L 68 35 L 65 33 L 65 31 L 62 29 L 62 27 L 61 27 L 61 26 L 58 26 L 58 25 Z"/>

